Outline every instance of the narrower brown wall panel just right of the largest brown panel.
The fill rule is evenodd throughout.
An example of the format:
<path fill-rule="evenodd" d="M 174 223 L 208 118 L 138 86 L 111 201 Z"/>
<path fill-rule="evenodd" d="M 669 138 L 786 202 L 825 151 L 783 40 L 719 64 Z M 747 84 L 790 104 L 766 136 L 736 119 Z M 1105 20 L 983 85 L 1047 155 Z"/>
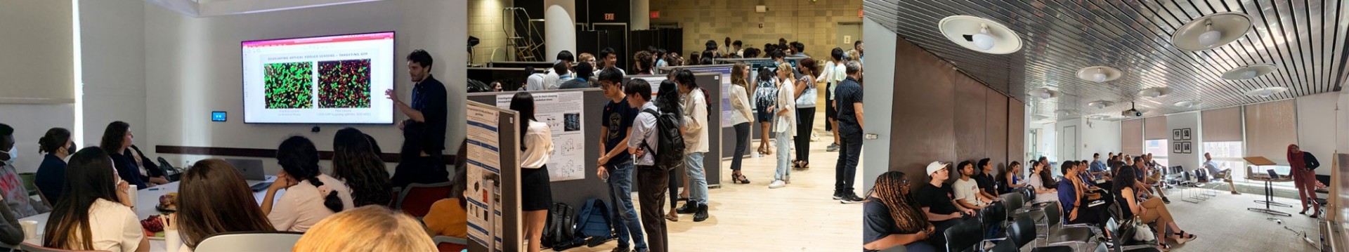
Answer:
<path fill-rule="evenodd" d="M 974 81 L 965 74 L 956 73 L 955 78 L 955 160 L 978 160 L 987 156 L 986 141 L 987 127 L 994 121 L 987 121 L 987 93 L 983 84 Z"/>

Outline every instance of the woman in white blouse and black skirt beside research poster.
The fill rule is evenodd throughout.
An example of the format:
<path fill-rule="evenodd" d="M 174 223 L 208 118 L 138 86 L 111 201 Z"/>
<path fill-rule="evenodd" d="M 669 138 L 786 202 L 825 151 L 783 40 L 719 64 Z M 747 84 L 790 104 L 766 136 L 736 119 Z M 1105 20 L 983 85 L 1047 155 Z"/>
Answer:
<path fill-rule="evenodd" d="M 548 208 L 553 205 L 553 191 L 548 178 L 548 159 L 553 156 L 553 131 L 548 124 L 534 119 L 534 96 L 529 92 L 515 93 L 510 100 L 510 109 L 519 112 L 519 117 L 527 121 L 519 125 L 519 131 L 525 132 L 523 137 L 519 137 L 519 194 L 521 210 L 525 212 L 525 240 L 529 240 L 529 252 L 538 252 Z"/>

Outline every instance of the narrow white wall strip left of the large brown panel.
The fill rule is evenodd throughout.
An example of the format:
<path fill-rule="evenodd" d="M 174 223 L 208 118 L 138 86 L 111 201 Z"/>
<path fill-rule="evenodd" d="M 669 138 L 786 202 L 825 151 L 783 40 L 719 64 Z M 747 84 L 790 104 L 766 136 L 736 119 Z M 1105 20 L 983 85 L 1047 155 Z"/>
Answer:
<path fill-rule="evenodd" d="M 863 63 L 863 74 L 869 80 L 894 80 L 894 67 L 889 63 L 894 62 L 894 49 L 898 43 L 898 36 L 890 30 L 886 30 L 880 23 L 871 19 L 862 19 L 862 32 L 873 34 L 870 36 L 862 38 L 867 49 L 871 50 L 871 63 Z M 867 92 L 878 94 L 894 93 L 894 85 L 870 85 Z M 871 190 L 876 178 L 890 170 L 890 124 L 893 121 L 902 121 L 901 119 L 893 119 L 894 101 L 889 98 L 874 98 L 884 96 L 867 96 L 866 102 L 862 102 L 862 111 L 866 113 L 863 121 L 866 128 L 862 129 L 865 133 L 877 133 L 880 137 L 862 140 L 862 191 Z"/>

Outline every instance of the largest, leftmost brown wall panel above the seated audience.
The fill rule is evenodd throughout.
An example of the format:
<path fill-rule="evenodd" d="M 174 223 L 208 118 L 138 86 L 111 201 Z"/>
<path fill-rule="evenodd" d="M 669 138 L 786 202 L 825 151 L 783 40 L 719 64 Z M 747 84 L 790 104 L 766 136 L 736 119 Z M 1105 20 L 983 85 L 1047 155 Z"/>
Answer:
<path fill-rule="evenodd" d="M 896 43 L 894 58 L 889 167 L 923 182 L 927 163 L 955 160 L 951 78 L 959 73 L 904 39 Z"/>

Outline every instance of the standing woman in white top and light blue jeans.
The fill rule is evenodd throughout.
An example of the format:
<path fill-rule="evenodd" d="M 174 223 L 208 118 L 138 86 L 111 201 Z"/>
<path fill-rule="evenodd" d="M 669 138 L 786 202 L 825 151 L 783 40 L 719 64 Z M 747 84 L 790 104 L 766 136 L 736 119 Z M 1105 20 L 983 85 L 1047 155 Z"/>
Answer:
<path fill-rule="evenodd" d="M 769 106 L 769 111 L 774 113 L 776 121 L 773 121 L 773 133 L 777 133 L 774 143 L 777 143 L 777 172 L 773 174 L 773 182 L 768 185 L 769 189 L 778 189 L 786 186 L 786 182 L 792 181 L 792 168 L 788 168 L 788 163 L 792 162 L 791 139 L 796 136 L 796 78 L 792 75 L 791 63 L 777 65 L 777 105 Z M 809 146 L 803 146 L 797 148 L 809 148 Z"/>

